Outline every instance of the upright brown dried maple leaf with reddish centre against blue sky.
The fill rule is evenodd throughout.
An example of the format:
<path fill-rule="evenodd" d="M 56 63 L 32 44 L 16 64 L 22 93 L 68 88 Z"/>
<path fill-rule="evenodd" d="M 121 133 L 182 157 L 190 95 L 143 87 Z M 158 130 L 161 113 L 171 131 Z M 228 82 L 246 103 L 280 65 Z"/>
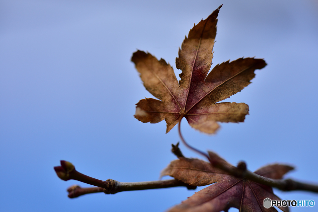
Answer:
<path fill-rule="evenodd" d="M 266 66 L 263 59 L 239 58 L 216 65 L 208 74 L 216 36 L 219 8 L 194 25 L 185 38 L 176 68 L 181 69 L 177 81 L 172 67 L 143 51 L 131 60 L 140 72 L 146 89 L 160 99 L 142 99 L 136 105 L 135 118 L 142 122 L 167 122 L 168 133 L 182 117 L 190 126 L 204 133 L 214 133 L 220 122 L 243 122 L 248 114 L 244 103 L 218 103 L 241 91 L 254 78 L 254 70 Z M 208 75 L 207 75 L 208 74 Z"/>

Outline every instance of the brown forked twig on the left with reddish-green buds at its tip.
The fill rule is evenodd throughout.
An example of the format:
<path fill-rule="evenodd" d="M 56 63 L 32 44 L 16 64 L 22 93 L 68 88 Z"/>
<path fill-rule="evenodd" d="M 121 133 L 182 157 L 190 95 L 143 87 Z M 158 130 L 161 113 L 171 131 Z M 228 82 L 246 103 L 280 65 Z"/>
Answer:
<path fill-rule="evenodd" d="M 64 181 L 77 180 L 100 188 L 69 188 L 69 192 L 73 192 L 70 198 L 77 197 L 88 193 L 101 192 L 103 189 L 105 194 L 115 194 L 121 191 L 134 191 L 134 190 L 146 190 L 155 188 L 170 188 L 177 186 L 184 186 L 188 189 L 196 189 L 196 186 L 190 186 L 182 181 L 178 180 L 162 180 L 162 181 L 146 181 L 146 182 L 119 182 L 116 180 L 108 179 L 106 181 L 98 180 L 93 177 L 89 177 L 85 174 L 78 172 L 74 165 L 68 161 L 61 161 L 61 166 L 54 167 L 54 170 L 58 177 Z M 69 190 L 68 189 L 68 190 Z M 76 191 L 76 189 L 78 191 Z M 70 194 L 69 194 L 70 195 Z"/>

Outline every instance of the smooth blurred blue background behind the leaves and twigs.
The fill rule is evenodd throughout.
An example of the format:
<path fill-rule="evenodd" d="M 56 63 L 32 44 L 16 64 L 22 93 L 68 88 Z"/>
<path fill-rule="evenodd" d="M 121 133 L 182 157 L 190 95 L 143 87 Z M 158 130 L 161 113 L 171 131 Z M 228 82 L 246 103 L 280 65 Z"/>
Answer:
<path fill-rule="evenodd" d="M 67 187 L 86 184 L 61 181 L 53 167 L 63 159 L 102 180 L 157 180 L 179 138 L 164 121 L 133 117 L 152 95 L 131 55 L 149 51 L 179 74 L 184 36 L 222 3 L 213 64 L 256 56 L 268 65 L 225 100 L 250 106 L 245 123 L 207 136 L 183 120 L 184 137 L 250 170 L 284 162 L 297 168 L 288 177 L 318 182 L 317 1 L 0 0 L 0 211 L 164 211 L 191 196 L 169 188 L 69 199 Z M 317 194 L 276 194 L 315 201 L 291 211 L 318 209 Z"/>

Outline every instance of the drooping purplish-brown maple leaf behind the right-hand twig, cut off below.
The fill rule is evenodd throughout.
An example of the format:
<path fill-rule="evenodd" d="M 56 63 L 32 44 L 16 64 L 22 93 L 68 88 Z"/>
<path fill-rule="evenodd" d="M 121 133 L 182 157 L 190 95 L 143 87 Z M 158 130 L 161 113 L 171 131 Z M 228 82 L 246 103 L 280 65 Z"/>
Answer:
<path fill-rule="evenodd" d="M 232 166 L 215 153 L 209 152 L 209 156 L 212 161 Z M 281 179 L 292 169 L 294 168 L 291 166 L 273 164 L 260 168 L 255 173 L 268 178 Z M 234 177 L 212 167 L 211 163 L 199 159 L 179 157 L 179 160 L 172 161 L 162 171 L 162 175 L 170 175 L 193 186 L 214 183 L 195 193 L 180 205 L 171 208 L 169 212 L 219 212 L 227 211 L 230 207 L 237 208 L 240 212 L 273 212 L 277 211 L 274 207 L 266 209 L 263 206 L 264 199 L 280 200 L 273 194 L 271 187 Z M 288 211 L 288 207 L 279 208 L 282 211 Z"/>

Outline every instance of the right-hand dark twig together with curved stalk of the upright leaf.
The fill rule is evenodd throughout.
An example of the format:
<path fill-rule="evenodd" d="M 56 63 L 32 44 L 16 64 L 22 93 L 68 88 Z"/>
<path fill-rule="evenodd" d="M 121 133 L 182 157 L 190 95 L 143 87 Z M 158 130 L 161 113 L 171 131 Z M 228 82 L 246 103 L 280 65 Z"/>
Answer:
<path fill-rule="evenodd" d="M 213 157 L 211 155 L 208 155 L 200 150 L 197 150 L 196 148 L 191 147 L 189 144 L 187 144 L 187 142 L 183 139 L 183 136 L 181 134 L 180 123 L 181 123 L 181 120 L 179 121 L 178 132 L 183 144 L 186 147 L 190 148 L 191 150 L 197 152 L 198 154 L 201 154 L 204 157 L 206 157 L 210 161 L 213 167 L 221 169 L 229 174 L 232 174 L 235 177 L 242 177 L 247 180 L 257 182 L 259 184 L 278 188 L 282 191 L 303 190 L 303 191 L 311 191 L 311 192 L 318 193 L 317 184 L 303 183 L 299 181 L 294 181 L 292 179 L 285 179 L 285 180 L 271 179 L 271 178 L 260 176 L 258 174 L 255 174 L 247 170 L 245 162 L 240 162 L 238 164 L 238 167 L 234 167 L 234 166 L 230 167 L 228 164 L 225 164 L 223 161 L 213 160 Z"/>

